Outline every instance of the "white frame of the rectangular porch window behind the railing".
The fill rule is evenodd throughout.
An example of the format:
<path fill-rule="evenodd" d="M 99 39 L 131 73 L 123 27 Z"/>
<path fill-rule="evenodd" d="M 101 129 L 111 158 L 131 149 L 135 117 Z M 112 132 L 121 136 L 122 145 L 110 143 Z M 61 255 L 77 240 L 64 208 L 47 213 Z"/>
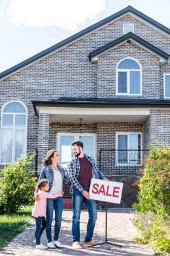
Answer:
<path fill-rule="evenodd" d="M 140 134 L 140 164 L 137 164 L 136 166 L 142 166 L 142 132 L 137 132 L 137 131 L 116 131 L 116 166 L 120 166 L 118 163 L 118 135 L 128 135 L 128 148 L 127 150 L 130 151 L 130 134 Z M 128 160 L 127 164 L 121 164 L 121 166 L 131 166 L 129 164 L 129 154 L 128 154 Z M 135 166 L 134 166 L 135 167 Z"/>

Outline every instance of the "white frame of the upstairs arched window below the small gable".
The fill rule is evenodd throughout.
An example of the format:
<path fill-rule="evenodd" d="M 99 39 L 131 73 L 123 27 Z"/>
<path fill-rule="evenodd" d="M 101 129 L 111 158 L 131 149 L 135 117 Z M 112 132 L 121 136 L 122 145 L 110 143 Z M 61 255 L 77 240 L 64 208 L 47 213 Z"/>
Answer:
<path fill-rule="evenodd" d="M 118 69 L 118 65 L 120 62 L 124 61 L 125 59 L 132 59 L 138 63 L 140 69 Z M 130 71 L 140 71 L 140 94 L 130 94 Z M 127 73 L 127 92 L 118 92 L 118 72 L 126 72 Z M 120 59 L 120 61 L 116 65 L 116 95 L 121 96 L 142 96 L 142 67 L 140 63 L 131 57 L 126 57 L 124 59 Z"/>

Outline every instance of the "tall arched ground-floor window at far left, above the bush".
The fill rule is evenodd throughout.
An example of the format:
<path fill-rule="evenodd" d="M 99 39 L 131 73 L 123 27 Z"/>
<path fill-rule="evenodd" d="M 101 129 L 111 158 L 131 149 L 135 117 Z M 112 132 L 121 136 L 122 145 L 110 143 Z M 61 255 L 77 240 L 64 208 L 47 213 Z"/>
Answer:
<path fill-rule="evenodd" d="M 8 102 L 1 113 L 1 164 L 11 164 L 26 154 L 27 108 L 19 101 Z"/>

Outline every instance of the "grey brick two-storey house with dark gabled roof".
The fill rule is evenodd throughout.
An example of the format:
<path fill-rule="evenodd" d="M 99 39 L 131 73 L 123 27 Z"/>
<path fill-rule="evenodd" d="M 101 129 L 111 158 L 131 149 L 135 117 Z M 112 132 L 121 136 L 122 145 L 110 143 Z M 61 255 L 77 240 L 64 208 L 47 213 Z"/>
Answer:
<path fill-rule="evenodd" d="M 132 205 L 145 154 L 170 145 L 169 54 L 169 28 L 128 6 L 3 71 L 1 167 L 37 150 L 40 172 L 58 148 L 67 168 L 81 139 Z"/>

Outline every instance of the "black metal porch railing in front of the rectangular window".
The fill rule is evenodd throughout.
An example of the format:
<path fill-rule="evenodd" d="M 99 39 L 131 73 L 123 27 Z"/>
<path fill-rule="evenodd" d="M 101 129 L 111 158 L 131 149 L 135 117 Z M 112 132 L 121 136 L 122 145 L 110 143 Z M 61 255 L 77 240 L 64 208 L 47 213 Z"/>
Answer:
<path fill-rule="evenodd" d="M 99 169 L 104 174 L 132 174 L 143 167 L 148 150 L 114 150 L 99 151 Z"/>

